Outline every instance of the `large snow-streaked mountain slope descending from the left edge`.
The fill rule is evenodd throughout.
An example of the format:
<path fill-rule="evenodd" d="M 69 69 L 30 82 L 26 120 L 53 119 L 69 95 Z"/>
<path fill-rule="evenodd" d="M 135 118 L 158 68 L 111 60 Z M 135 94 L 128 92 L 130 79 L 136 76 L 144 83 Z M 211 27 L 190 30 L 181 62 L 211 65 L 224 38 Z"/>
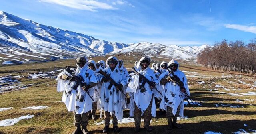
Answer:
<path fill-rule="evenodd" d="M 61 30 L 0 12 L 0 59 L 34 61 L 104 55 L 127 47 L 124 43 Z M 22 57 L 22 58 L 20 58 Z"/>

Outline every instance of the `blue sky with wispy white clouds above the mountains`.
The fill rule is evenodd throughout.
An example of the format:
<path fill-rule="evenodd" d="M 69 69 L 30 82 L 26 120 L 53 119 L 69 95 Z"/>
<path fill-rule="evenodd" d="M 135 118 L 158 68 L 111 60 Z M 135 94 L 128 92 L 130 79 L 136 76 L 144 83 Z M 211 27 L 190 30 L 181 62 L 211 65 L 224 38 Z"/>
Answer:
<path fill-rule="evenodd" d="M 256 0 L 1 0 L 0 10 L 120 43 L 187 46 L 256 38 Z"/>

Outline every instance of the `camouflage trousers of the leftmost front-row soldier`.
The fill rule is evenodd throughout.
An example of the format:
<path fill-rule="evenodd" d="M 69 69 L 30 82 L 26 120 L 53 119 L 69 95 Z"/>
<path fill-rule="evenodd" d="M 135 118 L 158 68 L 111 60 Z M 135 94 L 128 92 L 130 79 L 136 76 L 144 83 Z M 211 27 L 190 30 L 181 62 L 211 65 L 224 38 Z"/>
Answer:
<path fill-rule="evenodd" d="M 90 112 L 90 111 L 89 111 Z M 74 126 L 87 126 L 88 125 L 88 113 L 82 113 L 82 114 L 76 114 L 76 112 L 73 112 L 74 115 Z"/>

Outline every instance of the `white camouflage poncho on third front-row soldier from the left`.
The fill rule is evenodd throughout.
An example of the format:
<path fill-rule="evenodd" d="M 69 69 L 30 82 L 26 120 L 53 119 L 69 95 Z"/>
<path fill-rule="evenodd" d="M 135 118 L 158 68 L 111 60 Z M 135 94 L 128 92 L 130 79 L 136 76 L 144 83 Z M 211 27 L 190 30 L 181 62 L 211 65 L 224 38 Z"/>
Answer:
<path fill-rule="evenodd" d="M 141 70 L 140 63 L 145 57 L 142 57 L 137 64 L 137 69 L 140 74 L 144 75 L 148 80 L 155 82 L 156 84 L 159 83 L 156 73 L 148 66 L 143 71 Z M 129 82 L 126 92 L 134 93 L 134 102 L 141 110 L 142 115 L 144 114 L 145 110 L 148 108 L 150 101 L 152 99 L 152 108 L 151 108 L 151 115 L 153 117 L 156 116 L 156 103 L 154 100 L 154 93 L 157 92 L 155 89 L 151 89 L 148 83 L 145 83 L 144 87 L 142 85 L 143 81 L 139 81 L 139 76 L 135 73 L 130 73 L 127 77 L 127 81 Z M 130 109 L 133 110 L 134 109 Z"/>

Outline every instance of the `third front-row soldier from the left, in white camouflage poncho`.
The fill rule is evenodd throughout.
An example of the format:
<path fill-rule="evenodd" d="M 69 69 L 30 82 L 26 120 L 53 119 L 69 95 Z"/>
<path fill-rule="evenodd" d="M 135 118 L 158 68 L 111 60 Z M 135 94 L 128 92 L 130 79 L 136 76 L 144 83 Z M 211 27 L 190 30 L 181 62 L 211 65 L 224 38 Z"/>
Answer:
<path fill-rule="evenodd" d="M 150 57 L 142 57 L 137 64 L 137 71 L 144 75 L 148 80 L 150 80 L 155 85 L 159 83 L 158 78 L 154 71 L 149 67 Z M 135 120 L 135 132 L 140 131 L 140 120 L 141 116 L 144 115 L 144 128 L 150 132 L 152 128 L 150 127 L 150 120 L 152 116 L 156 116 L 156 104 L 154 101 L 154 91 L 153 87 L 150 87 L 146 81 L 139 77 L 135 73 L 131 73 L 127 81 L 130 82 L 126 92 L 134 93 L 134 120 Z"/>

